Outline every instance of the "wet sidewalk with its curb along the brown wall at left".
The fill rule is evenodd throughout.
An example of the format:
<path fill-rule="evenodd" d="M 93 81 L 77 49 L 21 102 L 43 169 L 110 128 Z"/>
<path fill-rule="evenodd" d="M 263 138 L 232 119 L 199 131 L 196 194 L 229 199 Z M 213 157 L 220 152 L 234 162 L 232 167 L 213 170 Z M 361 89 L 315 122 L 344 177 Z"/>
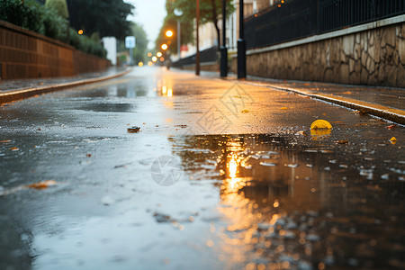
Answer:
<path fill-rule="evenodd" d="M 126 67 L 110 67 L 103 72 L 85 73 L 79 76 L 0 80 L 0 104 L 45 94 L 67 87 L 92 84 L 130 72 Z"/>

